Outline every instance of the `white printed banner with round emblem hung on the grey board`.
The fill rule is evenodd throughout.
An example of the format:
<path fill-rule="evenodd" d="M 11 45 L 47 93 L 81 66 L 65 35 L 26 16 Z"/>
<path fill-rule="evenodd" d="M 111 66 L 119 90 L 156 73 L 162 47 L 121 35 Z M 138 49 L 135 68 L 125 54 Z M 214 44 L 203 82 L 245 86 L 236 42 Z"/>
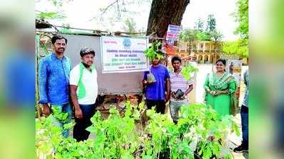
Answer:
<path fill-rule="evenodd" d="M 146 37 L 101 37 L 102 73 L 148 71 Z"/>

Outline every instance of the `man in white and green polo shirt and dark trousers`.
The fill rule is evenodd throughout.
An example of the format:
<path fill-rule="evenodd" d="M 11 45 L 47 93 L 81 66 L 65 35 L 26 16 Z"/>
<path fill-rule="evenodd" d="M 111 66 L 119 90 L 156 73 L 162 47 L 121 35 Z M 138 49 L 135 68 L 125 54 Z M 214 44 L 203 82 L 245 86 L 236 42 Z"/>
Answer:
<path fill-rule="evenodd" d="M 81 62 L 70 72 L 70 93 L 75 110 L 75 126 L 73 138 L 77 141 L 87 140 L 89 131 L 85 130 L 92 125 L 90 121 L 95 112 L 98 93 L 97 71 L 94 68 L 92 49 L 84 48 L 80 51 Z"/>

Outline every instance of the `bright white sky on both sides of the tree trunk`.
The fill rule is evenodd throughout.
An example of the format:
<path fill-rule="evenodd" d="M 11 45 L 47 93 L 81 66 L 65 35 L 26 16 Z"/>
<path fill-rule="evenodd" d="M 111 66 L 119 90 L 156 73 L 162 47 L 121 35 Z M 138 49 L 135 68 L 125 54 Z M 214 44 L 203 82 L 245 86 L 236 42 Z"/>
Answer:
<path fill-rule="evenodd" d="M 69 23 L 74 28 L 84 28 L 93 30 L 111 30 L 118 31 L 124 26 L 124 21 L 119 20 L 114 23 L 114 10 L 109 10 L 104 13 L 104 22 L 93 19 L 98 17 L 101 11 L 99 8 L 105 8 L 114 0 L 72 0 L 63 4 L 62 8 L 58 9 L 53 6 L 48 0 L 40 0 L 35 4 L 37 11 L 63 11 L 67 18 L 65 20 L 50 20 L 50 23 L 55 25 L 62 25 L 62 23 Z M 126 10 L 136 11 L 136 13 L 121 13 L 121 16 L 133 18 L 137 29 L 146 30 L 148 25 L 148 16 L 151 9 L 151 3 L 130 4 Z M 187 6 L 182 18 L 183 28 L 194 28 L 195 22 L 198 18 L 207 20 L 209 14 L 214 14 L 217 23 L 217 30 L 223 35 L 223 40 L 236 40 L 238 36 L 234 35 L 234 30 L 238 23 L 234 21 L 233 13 L 236 10 L 236 0 L 191 0 Z"/>

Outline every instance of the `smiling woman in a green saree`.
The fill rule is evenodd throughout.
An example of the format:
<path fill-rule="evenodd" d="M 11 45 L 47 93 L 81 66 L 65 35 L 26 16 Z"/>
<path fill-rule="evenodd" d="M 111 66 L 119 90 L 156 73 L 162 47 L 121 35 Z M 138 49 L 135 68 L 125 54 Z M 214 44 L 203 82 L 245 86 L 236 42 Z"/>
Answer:
<path fill-rule="evenodd" d="M 211 105 L 221 116 L 235 114 L 236 110 L 236 81 L 234 76 L 225 71 L 226 61 L 216 61 L 216 73 L 207 74 L 204 89 L 205 103 Z"/>

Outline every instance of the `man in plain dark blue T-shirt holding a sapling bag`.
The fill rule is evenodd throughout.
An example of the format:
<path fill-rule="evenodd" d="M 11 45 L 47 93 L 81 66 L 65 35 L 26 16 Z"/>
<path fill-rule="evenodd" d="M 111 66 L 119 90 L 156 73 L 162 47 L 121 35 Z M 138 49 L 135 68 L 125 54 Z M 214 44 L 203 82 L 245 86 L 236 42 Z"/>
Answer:
<path fill-rule="evenodd" d="M 151 73 L 155 77 L 155 82 L 149 80 Z M 146 86 L 147 108 L 155 106 L 156 112 L 165 114 L 165 103 L 170 99 L 170 75 L 167 67 L 160 64 L 158 57 L 153 59 L 150 72 L 144 72 L 142 83 Z"/>

